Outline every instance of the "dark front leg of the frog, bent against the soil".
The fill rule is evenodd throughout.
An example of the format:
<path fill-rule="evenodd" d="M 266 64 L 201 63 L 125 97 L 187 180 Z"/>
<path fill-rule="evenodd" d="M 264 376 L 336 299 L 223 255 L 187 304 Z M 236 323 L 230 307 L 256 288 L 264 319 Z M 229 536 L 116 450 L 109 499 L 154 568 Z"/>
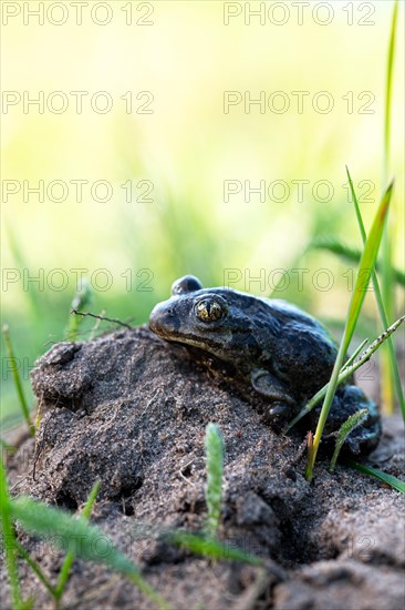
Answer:
<path fill-rule="evenodd" d="M 266 424 L 279 427 L 297 411 L 297 401 L 287 388 L 266 369 L 255 369 L 250 377 L 251 386 L 269 403 L 263 413 Z"/>

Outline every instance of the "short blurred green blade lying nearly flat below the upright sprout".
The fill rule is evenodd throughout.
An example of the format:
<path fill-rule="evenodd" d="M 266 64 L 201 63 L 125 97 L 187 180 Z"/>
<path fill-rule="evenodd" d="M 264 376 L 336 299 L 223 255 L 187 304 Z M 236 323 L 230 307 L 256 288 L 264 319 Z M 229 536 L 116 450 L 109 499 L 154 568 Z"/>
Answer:
<path fill-rule="evenodd" d="M 263 563 L 260 557 L 249 555 L 236 547 L 229 546 L 227 542 L 207 538 L 206 536 L 197 536 L 185 531 L 170 531 L 166 535 L 169 542 L 189 550 L 195 555 L 211 557 L 212 559 L 225 559 L 228 561 L 241 561 L 251 566 L 261 566 Z"/>

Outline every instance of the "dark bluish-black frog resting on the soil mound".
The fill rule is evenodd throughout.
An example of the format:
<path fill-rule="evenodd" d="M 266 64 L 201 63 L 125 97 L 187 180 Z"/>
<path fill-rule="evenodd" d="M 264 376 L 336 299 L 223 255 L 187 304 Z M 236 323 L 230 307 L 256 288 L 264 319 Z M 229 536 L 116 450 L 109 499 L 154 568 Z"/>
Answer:
<path fill-rule="evenodd" d="M 227 286 L 204 288 L 194 275 L 174 282 L 172 296 L 152 311 L 149 328 L 231 384 L 278 431 L 330 380 L 338 355 L 328 329 L 297 305 Z M 333 438 L 361 408 L 367 417 L 345 444 L 352 455 L 377 446 L 381 418 L 375 403 L 350 378 L 335 393 L 324 438 Z M 313 426 L 319 413 L 320 406 L 304 425 Z"/>

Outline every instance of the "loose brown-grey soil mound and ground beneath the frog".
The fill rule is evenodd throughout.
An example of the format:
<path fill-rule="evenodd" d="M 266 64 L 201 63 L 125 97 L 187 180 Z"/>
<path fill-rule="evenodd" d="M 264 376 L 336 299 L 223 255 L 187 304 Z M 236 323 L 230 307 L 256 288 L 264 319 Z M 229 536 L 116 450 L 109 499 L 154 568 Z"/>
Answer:
<path fill-rule="evenodd" d="M 22 440 L 9 459 L 13 495 L 75 511 L 100 478 L 93 522 L 174 609 L 404 608 L 404 496 L 343 466 L 331 475 L 322 460 L 309 485 L 302 435 L 276 434 L 184 347 L 146 327 L 62 343 L 38 360 L 32 384 L 41 424 L 35 440 Z M 204 527 L 209 421 L 220 427 L 226 447 L 219 536 L 263 558 L 264 573 L 193 556 L 162 537 L 167 528 Z M 384 420 L 383 428 L 367 462 L 402 477 L 401 418 Z M 55 582 L 63 553 L 20 530 L 19 537 Z M 35 608 L 53 607 L 24 562 L 20 576 Z M 8 608 L 3 568 L 0 583 Z M 77 560 L 63 607 L 154 604 L 120 575 Z"/>

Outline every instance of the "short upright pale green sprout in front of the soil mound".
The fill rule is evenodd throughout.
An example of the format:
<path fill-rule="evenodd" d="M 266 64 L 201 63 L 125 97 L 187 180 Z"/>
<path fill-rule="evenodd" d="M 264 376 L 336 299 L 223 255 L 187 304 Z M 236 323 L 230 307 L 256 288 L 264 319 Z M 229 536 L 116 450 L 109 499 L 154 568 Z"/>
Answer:
<path fill-rule="evenodd" d="M 224 476 L 224 441 L 220 429 L 215 424 L 208 424 L 207 426 L 205 446 L 207 461 L 206 501 L 208 508 L 206 531 L 209 538 L 215 538 L 221 516 Z"/>

